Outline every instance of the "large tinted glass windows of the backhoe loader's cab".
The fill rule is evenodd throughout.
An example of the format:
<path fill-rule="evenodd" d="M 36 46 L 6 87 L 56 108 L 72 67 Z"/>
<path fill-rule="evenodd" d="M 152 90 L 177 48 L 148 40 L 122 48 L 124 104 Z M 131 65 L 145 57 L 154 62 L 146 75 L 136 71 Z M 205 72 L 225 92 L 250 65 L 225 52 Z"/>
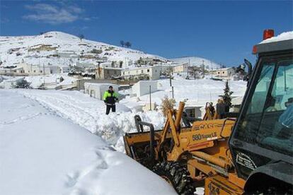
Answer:
<path fill-rule="evenodd" d="M 293 154 L 293 61 L 263 59 L 236 138 Z"/>

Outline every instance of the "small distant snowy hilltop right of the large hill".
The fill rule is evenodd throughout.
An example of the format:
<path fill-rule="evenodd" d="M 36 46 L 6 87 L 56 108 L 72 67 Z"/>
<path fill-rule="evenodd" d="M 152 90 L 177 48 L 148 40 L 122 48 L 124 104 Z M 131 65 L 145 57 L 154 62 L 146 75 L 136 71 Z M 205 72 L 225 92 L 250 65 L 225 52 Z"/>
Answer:
<path fill-rule="evenodd" d="M 210 61 L 209 59 L 205 59 L 202 57 L 178 57 L 178 58 L 173 58 L 170 60 L 177 62 L 177 63 L 190 62 L 190 66 L 201 66 L 202 64 L 204 64 L 207 69 L 219 69 L 220 68 L 220 64 L 217 64 L 214 61 Z"/>

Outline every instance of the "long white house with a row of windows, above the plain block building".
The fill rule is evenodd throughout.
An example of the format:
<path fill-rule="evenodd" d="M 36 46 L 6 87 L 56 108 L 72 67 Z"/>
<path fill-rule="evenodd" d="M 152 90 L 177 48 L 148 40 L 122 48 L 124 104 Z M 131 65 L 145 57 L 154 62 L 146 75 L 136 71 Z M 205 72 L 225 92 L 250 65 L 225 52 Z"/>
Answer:
<path fill-rule="evenodd" d="M 158 80 L 161 75 L 161 66 L 145 66 L 135 69 L 125 69 L 122 70 L 121 75 L 126 79 L 139 79 L 147 76 L 149 80 Z"/>

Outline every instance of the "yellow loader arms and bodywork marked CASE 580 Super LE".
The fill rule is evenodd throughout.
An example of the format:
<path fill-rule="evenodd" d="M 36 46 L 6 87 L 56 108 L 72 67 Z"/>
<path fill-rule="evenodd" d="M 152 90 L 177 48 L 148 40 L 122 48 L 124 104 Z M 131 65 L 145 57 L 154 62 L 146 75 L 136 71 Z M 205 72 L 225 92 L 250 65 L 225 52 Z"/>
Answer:
<path fill-rule="evenodd" d="M 198 181 L 205 179 L 205 194 L 243 194 L 245 181 L 235 174 L 228 147 L 235 120 L 217 119 L 217 114 L 209 112 L 205 120 L 182 129 L 179 119 L 183 107 L 184 103 L 180 102 L 177 112 L 169 110 L 163 130 L 155 131 L 156 160 L 160 159 L 161 148 L 168 141 L 173 145 L 166 153 L 166 160 L 185 160 L 190 177 Z M 128 134 L 124 139 L 129 155 L 131 146 L 149 143 L 150 135 L 149 132 Z"/>

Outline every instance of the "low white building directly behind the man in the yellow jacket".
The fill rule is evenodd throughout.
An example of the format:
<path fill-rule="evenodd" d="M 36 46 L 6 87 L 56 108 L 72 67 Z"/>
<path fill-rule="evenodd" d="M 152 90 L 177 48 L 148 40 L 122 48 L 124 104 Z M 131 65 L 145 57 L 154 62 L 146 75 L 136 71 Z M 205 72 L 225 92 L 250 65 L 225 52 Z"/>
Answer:
<path fill-rule="evenodd" d="M 108 90 L 110 85 L 113 86 L 116 92 L 118 91 L 119 85 L 112 83 L 84 83 L 84 93 L 98 100 L 103 100 L 103 94 Z"/>

